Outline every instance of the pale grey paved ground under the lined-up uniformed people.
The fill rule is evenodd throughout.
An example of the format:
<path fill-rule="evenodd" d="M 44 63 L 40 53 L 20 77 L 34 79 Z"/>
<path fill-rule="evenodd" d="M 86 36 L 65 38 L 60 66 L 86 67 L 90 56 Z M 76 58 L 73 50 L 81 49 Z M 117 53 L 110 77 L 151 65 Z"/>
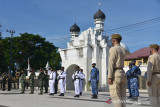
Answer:
<path fill-rule="evenodd" d="M 19 94 L 19 90 L 1 91 L 0 107 L 113 107 L 113 104 L 106 103 L 109 99 L 108 92 L 99 92 L 98 99 L 91 99 L 91 92 L 84 92 L 80 98 L 74 98 L 74 92 L 67 91 L 64 97 L 58 95 L 49 96 L 48 94 Z M 59 93 L 58 93 L 59 94 Z M 133 103 L 127 100 L 127 107 L 149 107 L 148 94 L 145 91 L 140 93 L 139 102 Z"/>

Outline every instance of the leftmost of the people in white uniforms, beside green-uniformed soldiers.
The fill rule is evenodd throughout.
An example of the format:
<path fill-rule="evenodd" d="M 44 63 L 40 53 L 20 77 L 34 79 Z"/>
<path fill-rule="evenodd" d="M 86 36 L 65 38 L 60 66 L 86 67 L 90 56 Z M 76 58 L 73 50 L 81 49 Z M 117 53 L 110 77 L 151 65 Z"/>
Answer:
<path fill-rule="evenodd" d="M 49 95 L 54 95 L 55 80 L 56 80 L 56 72 L 53 69 L 51 69 L 51 71 L 49 72 L 49 88 L 50 88 L 50 94 Z"/>

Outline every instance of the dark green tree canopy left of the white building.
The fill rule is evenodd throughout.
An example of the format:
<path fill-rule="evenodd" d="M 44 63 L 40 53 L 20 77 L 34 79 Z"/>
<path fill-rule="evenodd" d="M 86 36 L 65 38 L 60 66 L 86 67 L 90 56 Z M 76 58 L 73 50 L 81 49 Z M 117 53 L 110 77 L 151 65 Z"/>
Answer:
<path fill-rule="evenodd" d="M 10 64 L 10 45 L 11 38 L 0 38 L 0 71 L 8 71 Z M 34 34 L 20 34 L 20 36 L 13 37 L 12 48 L 12 70 L 15 70 L 15 64 L 19 65 L 20 69 L 27 69 L 28 58 L 30 59 L 31 68 L 38 70 L 46 66 L 47 61 L 50 66 L 57 70 L 60 69 L 61 58 L 58 53 L 58 48 L 46 41 L 40 35 Z"/>

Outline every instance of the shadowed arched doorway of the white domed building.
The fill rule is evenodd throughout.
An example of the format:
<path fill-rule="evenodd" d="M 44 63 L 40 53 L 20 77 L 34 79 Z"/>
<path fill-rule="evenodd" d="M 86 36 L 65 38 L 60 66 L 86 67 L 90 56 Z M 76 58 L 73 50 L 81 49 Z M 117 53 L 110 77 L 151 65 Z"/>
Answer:
<path fill-rule="evenodd" d="M 76 64 L 70 65 L 66 72 L 67 72 L 67 78 L 66 78 L 66 90 L 74 90 L 74 82 L 72 81 L 72 74 L 76 71 L 75 67 Z"/>

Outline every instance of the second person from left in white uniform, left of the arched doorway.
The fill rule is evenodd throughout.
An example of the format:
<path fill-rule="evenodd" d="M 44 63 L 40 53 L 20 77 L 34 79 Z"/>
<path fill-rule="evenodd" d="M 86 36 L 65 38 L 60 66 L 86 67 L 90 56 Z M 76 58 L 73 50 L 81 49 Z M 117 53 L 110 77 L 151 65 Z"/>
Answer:
<path fill-rule="evenodd" d="M 64 67 L 61 68 L 61 71 L 58 75 L 58 81 L 59 81 L 59 88 L 60 88 L 60 95 L 59 96 L 64 96 L 65 84 L 66 84 L 66 71 L 64 71 Z"/>

